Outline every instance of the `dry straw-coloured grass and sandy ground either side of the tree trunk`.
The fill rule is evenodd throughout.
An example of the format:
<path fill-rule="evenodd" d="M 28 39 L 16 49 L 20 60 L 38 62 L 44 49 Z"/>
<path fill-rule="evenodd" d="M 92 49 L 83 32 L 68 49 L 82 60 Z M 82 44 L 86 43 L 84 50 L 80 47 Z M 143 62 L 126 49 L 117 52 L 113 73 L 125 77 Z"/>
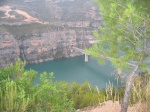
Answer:
<path fill-rule="evenodd" d="M 115 95 L 113 95 L 113 91 L 115 91 Z M 119 96 L 119 92 L 114 90 L 113 85 L 109 83 L 104 103 L 84 108 L 79 112 L 120 112 L 121 104 L 119 102 L 122 98 Z M 150 74 L 144 73 L 135 77 L 128 112 L 150 112 Z"/>

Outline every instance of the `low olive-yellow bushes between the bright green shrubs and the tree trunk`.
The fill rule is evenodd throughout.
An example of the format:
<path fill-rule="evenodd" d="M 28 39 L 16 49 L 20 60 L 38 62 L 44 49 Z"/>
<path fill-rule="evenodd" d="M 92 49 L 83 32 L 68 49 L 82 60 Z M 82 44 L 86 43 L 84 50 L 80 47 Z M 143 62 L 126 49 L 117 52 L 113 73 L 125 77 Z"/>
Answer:
<path fill-rule="evenodd" d="M 100 89 L 93 87 L 89 82 L 78 84 L 76 82 L 57 82 L 57 86 L 64 84 L 64 91 L 68 99 L 74 102 L 76 109 L 88 106 L 95 106 L 107 100 L 121 101 L 124 95 L 124 88 L 115 88 L 112 84 L 107 88 Z"/>

